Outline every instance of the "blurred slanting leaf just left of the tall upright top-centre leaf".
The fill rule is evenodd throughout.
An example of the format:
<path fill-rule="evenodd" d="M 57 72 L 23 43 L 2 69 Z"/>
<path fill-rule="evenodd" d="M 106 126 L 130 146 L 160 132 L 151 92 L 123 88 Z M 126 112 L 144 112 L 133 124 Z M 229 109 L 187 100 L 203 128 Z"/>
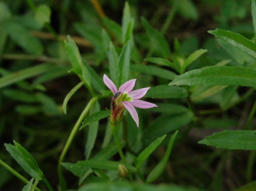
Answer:
<path fill-rule="evenodd" d="M 102 17 L 102 23 L 107 28 L 107 30 L 112 34 L 112 36 L 116 37 L 119 43 L 122 43 L 122 28 L 115 21 Z"/>

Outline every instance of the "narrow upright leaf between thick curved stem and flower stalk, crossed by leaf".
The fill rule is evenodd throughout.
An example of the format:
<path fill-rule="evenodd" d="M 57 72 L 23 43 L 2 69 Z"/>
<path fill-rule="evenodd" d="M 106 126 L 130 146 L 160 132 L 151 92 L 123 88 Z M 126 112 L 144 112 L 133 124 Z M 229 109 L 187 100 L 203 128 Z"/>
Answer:
<path fill-rule="evenodd" d="M 93 105 L 93 107 L 90 109 L 89 115 L 99 112 L 99 110 L 100 110 L 99 102 L 96 102 Z M 85 148 L 85 152 L 84 152 L 84 154 L 86 156 L 86 160 L 89 159 L 89 157 L 91 155 L 91 151 L 94 147 L 94 144 L 95 144 L 95 141 L 97 138 L 98 128 L 99 128 L 99 121 L 95 121 L 95 122 L 92 122 L 89 124 L 86 148 Z"/>

